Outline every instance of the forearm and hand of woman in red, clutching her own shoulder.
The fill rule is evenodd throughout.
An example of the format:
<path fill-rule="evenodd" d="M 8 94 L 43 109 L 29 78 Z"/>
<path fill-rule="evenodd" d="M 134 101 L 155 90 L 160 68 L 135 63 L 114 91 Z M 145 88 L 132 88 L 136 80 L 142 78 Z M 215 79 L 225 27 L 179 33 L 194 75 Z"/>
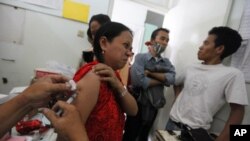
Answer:
<path fill-rule="evenodd" d="M 138 107 L 134 97 L 124 88 L 121 81 L 116 77 L 114 70 L 105 65 L 98 64 L 93 67 L 93 71 L 100 76 L 101 81 L 107 81 L 118 93 L 121 107 L 128 115 L 136 115 Z M 123 95 L 123 96 L 122 96 Z"/>

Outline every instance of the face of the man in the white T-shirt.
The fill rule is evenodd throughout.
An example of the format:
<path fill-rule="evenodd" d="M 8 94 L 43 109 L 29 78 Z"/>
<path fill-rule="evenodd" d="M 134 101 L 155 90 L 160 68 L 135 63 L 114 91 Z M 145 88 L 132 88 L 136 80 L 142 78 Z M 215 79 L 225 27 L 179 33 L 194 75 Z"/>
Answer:
<path fill-rule="evenodd" d="M 199 60 L 209 63 L 220 58 L 221 52 L 219 52 L 219 47 L 215 47 L 215 39 L 216 35 L 211 34 L 203 41 L 203 44 L 198 51 Z"/>

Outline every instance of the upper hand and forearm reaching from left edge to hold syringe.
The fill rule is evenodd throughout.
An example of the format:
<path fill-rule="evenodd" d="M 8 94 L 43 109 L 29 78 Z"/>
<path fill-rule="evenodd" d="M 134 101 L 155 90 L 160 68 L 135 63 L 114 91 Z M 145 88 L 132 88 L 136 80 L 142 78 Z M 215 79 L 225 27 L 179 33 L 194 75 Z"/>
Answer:
<path fill-rule="evenodd" d="M 67 81 L 68 79 L 61 75 L 43 77 L 18 96 L 0 105 L 0 137 L 31 110 L 45 106 L 52 94 L 70 90 Z"/>

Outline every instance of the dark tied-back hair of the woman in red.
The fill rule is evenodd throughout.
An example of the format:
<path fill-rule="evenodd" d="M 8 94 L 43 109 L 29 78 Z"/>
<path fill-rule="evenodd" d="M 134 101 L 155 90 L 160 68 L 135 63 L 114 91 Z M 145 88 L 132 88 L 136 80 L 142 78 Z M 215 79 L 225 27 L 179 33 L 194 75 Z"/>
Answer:
<path fill-rule="evenodd" d="M 99 62 L 104 63 L 100 38 L 105 36 L 109 42 L 112 42 L 123 31 L 129 31 L 132 34 L 132 31 L 127 26 L 117 22 L 108 22 L 98 29 L 94 39 L 94 54 Z"/>

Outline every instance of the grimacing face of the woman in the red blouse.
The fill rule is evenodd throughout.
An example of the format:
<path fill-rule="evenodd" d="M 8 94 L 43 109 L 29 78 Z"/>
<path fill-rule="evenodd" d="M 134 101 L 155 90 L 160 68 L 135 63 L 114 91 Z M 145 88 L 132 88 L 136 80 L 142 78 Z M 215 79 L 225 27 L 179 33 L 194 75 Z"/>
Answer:
<path fill-rule="evenodd" d="M 129 31 L 121 32 L 112 42 L 108 42 L 104 37 L 101 43 L 102 50 L 104 51 L 104 63 L 114 70 L 123 68 L 128 58 L 132 56 L 132 41 L 133 36 Z"/>

